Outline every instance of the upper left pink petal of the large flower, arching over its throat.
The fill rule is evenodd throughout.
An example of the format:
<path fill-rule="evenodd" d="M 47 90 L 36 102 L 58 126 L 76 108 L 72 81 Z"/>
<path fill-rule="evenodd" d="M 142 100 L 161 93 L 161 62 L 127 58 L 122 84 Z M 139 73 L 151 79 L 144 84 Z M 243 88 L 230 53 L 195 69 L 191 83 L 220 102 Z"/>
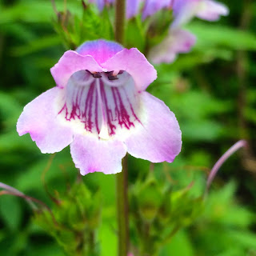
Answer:
<path fill-rule="evenodd" d="M 65 87 L 70 76 L 79 70 L 104 71 L 90 55 L 82 56 L 74 50 L 67 50 L 58 63 L 50 69 L 59 87 Z"/>

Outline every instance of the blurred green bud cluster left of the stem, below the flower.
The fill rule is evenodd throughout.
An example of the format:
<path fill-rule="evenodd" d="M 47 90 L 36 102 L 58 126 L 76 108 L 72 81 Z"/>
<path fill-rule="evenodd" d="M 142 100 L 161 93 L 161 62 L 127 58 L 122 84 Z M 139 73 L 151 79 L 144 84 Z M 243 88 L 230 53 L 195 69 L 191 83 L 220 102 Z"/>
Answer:
<path fill-rule="evenodd" d="M 101 220 L 101 194 L 92 194 L 80 181 L 65 197 L 57 195 L 53 200 L 52 210 L 34 212 L 34 222 L 53 236 L 67 255 L 99 255 L 96 234 Z"/>

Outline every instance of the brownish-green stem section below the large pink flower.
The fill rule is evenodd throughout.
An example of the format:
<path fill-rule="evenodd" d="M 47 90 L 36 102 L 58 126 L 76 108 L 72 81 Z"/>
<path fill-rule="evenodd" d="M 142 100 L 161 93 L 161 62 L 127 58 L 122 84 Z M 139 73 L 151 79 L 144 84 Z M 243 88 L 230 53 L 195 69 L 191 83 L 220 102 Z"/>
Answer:
<path fill-rule="evenodd" d="M 116 174 L 118 208 L 118 256 L 127 256 L 129 250 L 128 168 L 127 156 L 122 160 L 122 172 Z"/>

